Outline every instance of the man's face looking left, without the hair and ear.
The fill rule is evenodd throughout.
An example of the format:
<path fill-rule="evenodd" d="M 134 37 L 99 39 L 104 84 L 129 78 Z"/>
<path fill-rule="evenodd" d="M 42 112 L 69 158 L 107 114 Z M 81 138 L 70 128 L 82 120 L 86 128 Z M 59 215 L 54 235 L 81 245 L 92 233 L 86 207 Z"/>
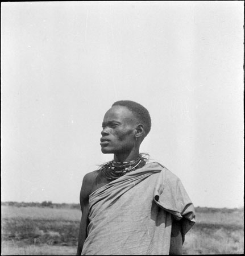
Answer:
<path fill-rule="evenodd" d="M 103 119 L 101 151 L 104 154 L 123 154 L 135 146 L 136 118 L 124 106 L 113 106 Z"/>

